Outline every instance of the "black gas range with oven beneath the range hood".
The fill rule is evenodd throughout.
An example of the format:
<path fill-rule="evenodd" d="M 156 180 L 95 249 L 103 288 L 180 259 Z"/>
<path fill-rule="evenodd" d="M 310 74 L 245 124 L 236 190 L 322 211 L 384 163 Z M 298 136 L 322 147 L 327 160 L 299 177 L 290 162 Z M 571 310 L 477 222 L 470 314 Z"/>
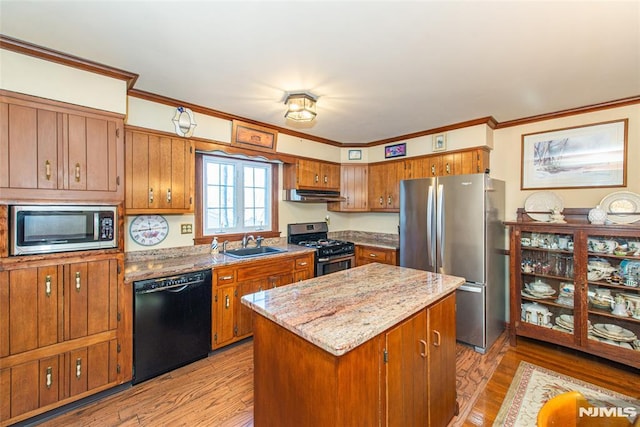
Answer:
<path fill-rule="evenodd" d="M 355 245 L 344 240 L 329 239 L 328 232 L 329 227 L 326 222 L 287 225 L 287 241 L 290 244 L 316 249 L 316 276 L 355 266 Z"/>

